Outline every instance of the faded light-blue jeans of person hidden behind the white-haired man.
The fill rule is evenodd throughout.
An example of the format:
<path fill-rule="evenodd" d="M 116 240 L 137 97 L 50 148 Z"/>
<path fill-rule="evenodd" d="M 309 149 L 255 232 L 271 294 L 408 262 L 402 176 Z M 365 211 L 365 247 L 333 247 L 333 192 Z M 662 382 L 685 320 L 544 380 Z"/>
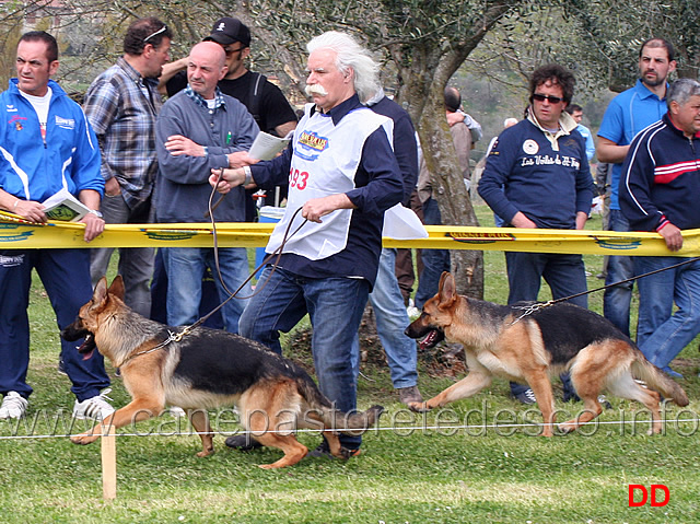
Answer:
<path fill-rule="evenodd" d="M 376 333 L 389 363 L 392 383 L 395 388 L 399 388 L 418 384 L 418 372 L 416 371 L 416 340 L 408 338 L 404 333 L 410 321 L 394 272 L 395 264 L 396 249 L 382 249 L 380 270 L 374 289 L 370 293 L 370 303 L 374 308 Z M 359 358 L 360 340 L 358 337 L 354 338 L 352 354 Z M 359 361 L 353 362 L 353 366 L 358 371 L 359 365 Z"/>

